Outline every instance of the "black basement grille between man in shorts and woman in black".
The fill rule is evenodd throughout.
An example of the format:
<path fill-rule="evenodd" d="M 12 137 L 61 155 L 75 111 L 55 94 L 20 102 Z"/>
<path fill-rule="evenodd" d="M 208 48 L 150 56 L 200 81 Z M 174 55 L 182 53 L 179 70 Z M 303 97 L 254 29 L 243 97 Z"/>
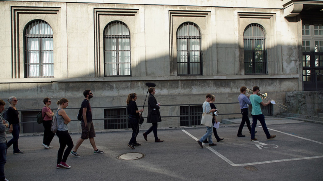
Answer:
<path fill-rule="evenodd" d="M 130 128 L 126 108 L 104 109 L 104 129 Z"/>

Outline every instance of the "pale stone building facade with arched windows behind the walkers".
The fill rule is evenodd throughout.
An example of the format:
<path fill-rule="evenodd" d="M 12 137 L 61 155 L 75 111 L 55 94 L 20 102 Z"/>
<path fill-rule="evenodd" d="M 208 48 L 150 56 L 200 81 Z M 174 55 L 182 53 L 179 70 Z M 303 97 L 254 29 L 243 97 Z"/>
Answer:
<path fill-rule="evenodd" d="M 142 106 L 146 82 L 156 84 L 160 127 L 193 126 L 179 116 L 199 114 L 206 93 L 216 96 L 219 120 L 241 117 L 241 86 L 286 105 L 290 92 L 323 89 L 322 10 L 321 0 L 1 1 L 0 98 L 16 96 L 30 122 L 44 97 L 66 97 L 76 119 L 90 89 L 99 130 L 126 128 L 127 95 Z M 22 124 L 22 132 L 39 129 Z"/>

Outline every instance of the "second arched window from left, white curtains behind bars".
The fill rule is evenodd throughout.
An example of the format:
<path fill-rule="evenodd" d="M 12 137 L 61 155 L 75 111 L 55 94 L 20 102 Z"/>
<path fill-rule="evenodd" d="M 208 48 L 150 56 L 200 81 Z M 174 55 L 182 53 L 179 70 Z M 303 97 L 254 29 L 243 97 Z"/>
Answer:
<path fill-rule="evenodd" d="M 104 30 L 104 76 L 130 76 L 130 31 L 120 21 L 109 23 Z"/>

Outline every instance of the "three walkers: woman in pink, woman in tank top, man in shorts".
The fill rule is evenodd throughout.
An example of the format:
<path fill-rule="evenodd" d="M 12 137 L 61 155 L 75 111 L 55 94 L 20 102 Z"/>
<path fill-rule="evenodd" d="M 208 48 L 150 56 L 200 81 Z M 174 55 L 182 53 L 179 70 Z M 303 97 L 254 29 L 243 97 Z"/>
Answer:
<path fill-rule="evenodd" d="M 82 101 L 81 110 L 82 110 L 82 120 L 81 120 L 81 128 L 82 134 L 81 137 L 76 142 L 74 146 L 73 140 L 68 133 L 68 123 L 71 122 L 71 118 L 68 117 L 67 113 L 65 112 L 65 108 L 68 106 L 68 99 L 61 98 L 57 101 L 58 109 L 56 111 L 55 120 L 57 121 L 57 131 L 56 135 L 59 140 L 59 149 L 57 152 L 57 165 L 56 168 L 71 168 L 66 161 L 69 154 L 80 157 L 81 155 L 78 154 L 77 150 L 78 147 L 81 146 L 84 140 L 89 139 L 90 144 L 93 147 L 93 154 L 100 154 L 104 151 L 99 150 L 96 147 L 94 137 L 95 137 L 95 130 L 94 125 L 92 124 L 92 110 L 90 105 L 90 99 L 93 97 L 93 93 L 91 90 L 85 90 L 83 92 L 83 96 L 85 99 Z M 55 136 L 55 133 L 51 130 L 52 121 L 54 113 L 50 109 L 51 100 L 50 98 L 46 97 L 44 99 L 45 106 L 42 110 L 43 125 L 44 125 L 44 139 L 43 139 L 43 146 L 45 149 L 53 148 L 50 146 L 50 143 Z M 55 121 L 54 120 L 54 121 Z M 67 146 L 67 148 L 66 148 Z M 66 148 L 66 149 L 65 149 Z M 65 150 L 65 151 L 64 151 Z"/>

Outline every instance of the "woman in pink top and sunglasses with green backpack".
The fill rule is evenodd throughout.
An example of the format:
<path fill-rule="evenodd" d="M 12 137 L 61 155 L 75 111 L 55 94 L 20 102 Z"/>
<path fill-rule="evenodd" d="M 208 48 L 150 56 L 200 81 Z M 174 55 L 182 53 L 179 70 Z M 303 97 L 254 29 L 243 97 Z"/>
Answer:
<path fill-rule="evenodd" d="M 45 149 L 53 148 L 53 146 L 49 146 L 50 142 L 52 142 L 55 133 L 53 133 L 50 128 L 52 127 L 52 120 L 54 113 L 50 109 L 50 105 L 52 104 L 52 101 L 50 98 L 46 97 L 43 100 L 45 106 L 42 110 L 42 116 L 43 116 L 43 126 L 44 126 L 44 138 L 43 138 L 43 146 Z"/>

